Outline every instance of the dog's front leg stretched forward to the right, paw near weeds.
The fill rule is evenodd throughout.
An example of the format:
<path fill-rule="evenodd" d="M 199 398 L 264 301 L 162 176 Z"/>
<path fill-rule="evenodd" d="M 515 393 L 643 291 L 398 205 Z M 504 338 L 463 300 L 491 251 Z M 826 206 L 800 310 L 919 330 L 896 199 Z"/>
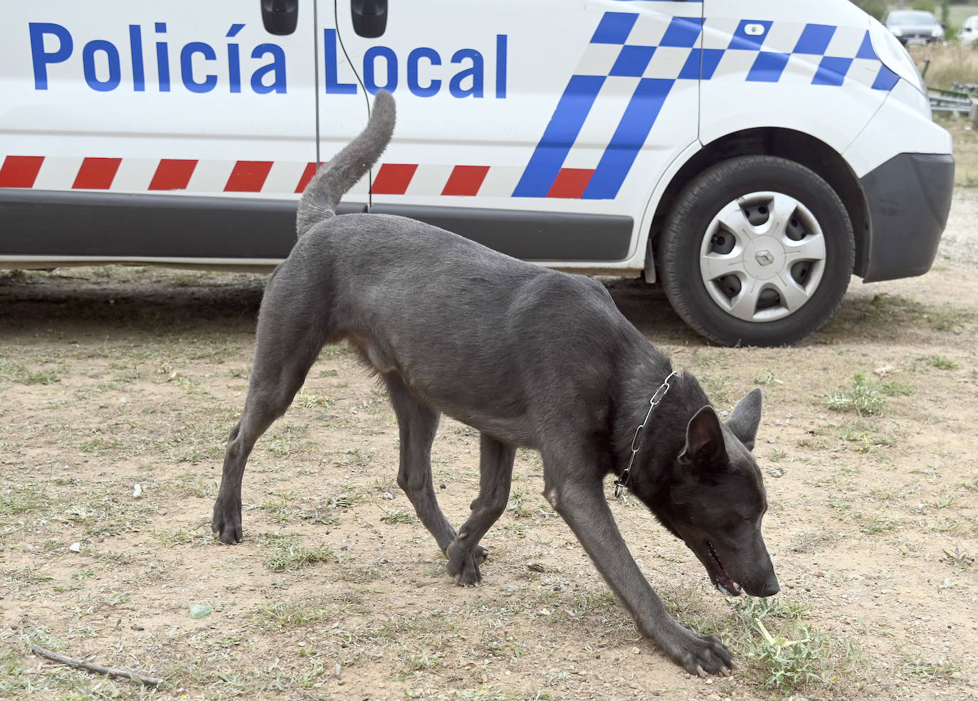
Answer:
<path fill-rule="evenodd" d="M 729 674 L 733 657 L 713 635 L 696 635 L 666 611 L 628 551 L 596 477 L 565 478 L 548 470 L 544 496 L 570 526 L 608 586 L 632 614 L 639 631 L 652 638 L 689 674 Z"/>

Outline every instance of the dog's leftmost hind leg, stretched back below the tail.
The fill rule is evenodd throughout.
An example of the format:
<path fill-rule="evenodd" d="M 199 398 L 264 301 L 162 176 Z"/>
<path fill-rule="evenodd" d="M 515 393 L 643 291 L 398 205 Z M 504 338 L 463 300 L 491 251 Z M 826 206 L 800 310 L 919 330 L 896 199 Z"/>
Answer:
<path fill-rule="evenodd" d="M 273 277 L 262 300 L 247 399 L 228 438 L 210 524 L 221 543 L 242 541 L 244 463 L 255 441 L 289 409 L 325 341 L 324 320 L 310 319 L 302 312 L 301 305 L 294 304 L 294 299 L 302 298 L 297 295 L 295 285 Z"/>

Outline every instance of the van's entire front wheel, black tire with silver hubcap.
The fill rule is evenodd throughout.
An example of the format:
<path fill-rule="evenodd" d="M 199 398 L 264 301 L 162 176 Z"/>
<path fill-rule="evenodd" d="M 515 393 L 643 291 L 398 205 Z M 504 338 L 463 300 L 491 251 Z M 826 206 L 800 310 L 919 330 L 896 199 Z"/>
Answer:
<path fill-rule="evenodd" d="M 666 295 L 690 327 L 722 345 L 777 346 L 831 318 L 854 256 L 852 223 L 828 183 L 794 161 L 745 155 L 689 183 L 656 258 Z M 730 272 L 714 277 L 724 266 Z"/>

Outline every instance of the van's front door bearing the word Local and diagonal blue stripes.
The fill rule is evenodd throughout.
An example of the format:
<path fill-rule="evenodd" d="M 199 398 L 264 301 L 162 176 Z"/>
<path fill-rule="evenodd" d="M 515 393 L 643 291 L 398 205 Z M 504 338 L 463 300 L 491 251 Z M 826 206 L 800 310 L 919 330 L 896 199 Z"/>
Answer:
<path fill-rule="evenodd" d="M 696 141 L 701 2 L 335 6 L 347 97 L 397 99 L 374 211 L 560 267 L 644 265 L 652 191 Z"/>

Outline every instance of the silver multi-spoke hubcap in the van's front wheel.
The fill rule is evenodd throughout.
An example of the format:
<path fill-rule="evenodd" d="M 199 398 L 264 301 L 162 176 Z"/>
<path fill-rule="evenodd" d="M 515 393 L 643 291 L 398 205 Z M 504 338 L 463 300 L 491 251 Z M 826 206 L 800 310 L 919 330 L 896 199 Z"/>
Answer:
<path fill-rule="evenodd" d="M 751 193 L 728 203 L 703 235 L 699 272 L 713 301 L 746 322 L 798 311 L 825 272 L 825 237 L 794 197 Z"/>

